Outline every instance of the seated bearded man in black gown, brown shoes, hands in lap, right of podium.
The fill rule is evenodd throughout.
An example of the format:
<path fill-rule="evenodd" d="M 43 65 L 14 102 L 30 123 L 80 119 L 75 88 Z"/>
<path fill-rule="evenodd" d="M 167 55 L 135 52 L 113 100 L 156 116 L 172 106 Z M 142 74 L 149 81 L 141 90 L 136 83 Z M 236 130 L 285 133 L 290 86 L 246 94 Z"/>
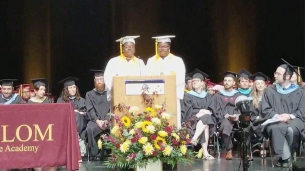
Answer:
<path fill-rule="evenodd" d="M 226 159 L 233 159 L 231 131 L 239 119 L 240 111 L 235 106 L 235 99 L 241 95 L 240 92 L 233 89 L 236 83 L 237 73 L 226 71 L 223 85 L 224 89 L 219 90 L 213 95 L 211 108 L 216 122 L 219 124 L 219 131 L 226 147 Z"/>

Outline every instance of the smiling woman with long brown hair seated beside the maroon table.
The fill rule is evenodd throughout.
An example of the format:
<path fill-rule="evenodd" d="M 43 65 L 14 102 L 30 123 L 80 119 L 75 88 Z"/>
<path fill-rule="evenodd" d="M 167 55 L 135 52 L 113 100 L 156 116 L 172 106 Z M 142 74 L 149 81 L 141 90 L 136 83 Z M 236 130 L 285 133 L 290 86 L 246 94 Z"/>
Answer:
<path fill-rule="evenodd" d="M 59 84 L 63 84 L 64 88 L 60 93 L 60 97 L 57 99 L 57 103 L 71 102 L 73 104 L 76 126 L 78 132 L 78 142 L 81 149 L 81 156 L 86 153 L 85 141 L 80 137 L 81 133 L 86 129 L 88 122 L 86 116 L 85 98 L 80 96 L 79 88 L 76 86 L 75 81 L 79 79 L 76 77 L 67 77 L 61 81 Z"/>

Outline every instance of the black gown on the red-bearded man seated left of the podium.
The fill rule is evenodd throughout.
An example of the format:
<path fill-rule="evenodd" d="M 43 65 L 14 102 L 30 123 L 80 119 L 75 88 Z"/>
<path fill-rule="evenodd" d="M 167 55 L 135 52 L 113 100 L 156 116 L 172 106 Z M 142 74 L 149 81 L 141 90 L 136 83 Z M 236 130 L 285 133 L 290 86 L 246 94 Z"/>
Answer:
<path fill-rule="evenodd" d="M 110 101 L 107 101 L 107 92 L 97 92 L 95 90 L 86 93 L 86 109 L 89 121 L 85 131 L 82 132 L 81 137 L 88 140 L 89 147 L 96 147 L 95 136 L 103 130 L 100 129 L 95 120 L 109 120 L 110 116 L 106 115 L 110 112 Z"/>

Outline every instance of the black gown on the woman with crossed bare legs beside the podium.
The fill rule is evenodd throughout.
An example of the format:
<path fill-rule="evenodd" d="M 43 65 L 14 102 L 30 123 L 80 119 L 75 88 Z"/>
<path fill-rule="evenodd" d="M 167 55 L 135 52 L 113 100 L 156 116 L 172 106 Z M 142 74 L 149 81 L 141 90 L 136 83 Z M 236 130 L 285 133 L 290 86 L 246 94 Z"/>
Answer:
<path fill-rule="evenodd" d="M 207 109 L 211 110 L 210 105 L 212 103 L 213 95 L 210 93 L 207 93 L 207 95 L 204 98 L 196 97 L 190 93 L 185 93 L 183 98 L 183 107 L 181 108 L 181 120 L 182 122 L 185 122 L 189 120 L 192 116 L 196 115 L 200 109 Z M 210 136 L 213 136 L 214 131 L 216 130 L 215 126 L 215 119 L 213 119 L 213 116 L 210 114 L 205 114 L 200 118 L 196 117 L 195 122 L 187 126 L 188 133 L 191 135 L 191 137 L 194 136 L 196 124 L 198 120 L 201 120 L 203 124 L 209 125 L 209 134 Z M 205 142 L 205 135 L 204 132 L 201 134 L 200 143 Z"/>

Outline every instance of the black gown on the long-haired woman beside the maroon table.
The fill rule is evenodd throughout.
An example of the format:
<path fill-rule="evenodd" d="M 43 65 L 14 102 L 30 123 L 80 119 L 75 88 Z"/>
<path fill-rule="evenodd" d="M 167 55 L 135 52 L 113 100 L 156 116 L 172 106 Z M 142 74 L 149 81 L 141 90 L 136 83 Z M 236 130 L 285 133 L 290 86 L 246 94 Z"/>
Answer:
<path fill-rule="evenodd" d="M 85 98 L 80 97 L 80 99 L 69 99 L 69 102 L 73 104 L 73 108 L 85 112 L 85 114 L 80 114 L 79 112 L 75 111 L 75 120 L 76 120 L 76 126 L 77 131 L 81 135 L 81 133 L 85 130 L 88 119 L 86 119 L 86 107 L 85 107 Z M 64 103 L 62 97 L 59 97 L 57 99 L 57 103 Z"/>

